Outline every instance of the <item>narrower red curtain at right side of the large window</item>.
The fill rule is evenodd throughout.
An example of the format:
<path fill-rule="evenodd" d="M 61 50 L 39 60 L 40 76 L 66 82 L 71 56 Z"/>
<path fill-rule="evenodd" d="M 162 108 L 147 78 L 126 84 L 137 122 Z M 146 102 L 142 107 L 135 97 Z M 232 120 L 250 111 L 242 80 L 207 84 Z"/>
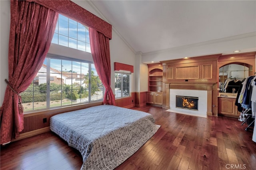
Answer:
<path fill-rule="evenodd" d="M 109 38 L 104 34 L 89 28 L 90 46 L 94 65 L 100 80 L 106 88 L 103 103 L 116 105 L 114 93 L 110 87 L 111 84 L 111 63 Z"/>

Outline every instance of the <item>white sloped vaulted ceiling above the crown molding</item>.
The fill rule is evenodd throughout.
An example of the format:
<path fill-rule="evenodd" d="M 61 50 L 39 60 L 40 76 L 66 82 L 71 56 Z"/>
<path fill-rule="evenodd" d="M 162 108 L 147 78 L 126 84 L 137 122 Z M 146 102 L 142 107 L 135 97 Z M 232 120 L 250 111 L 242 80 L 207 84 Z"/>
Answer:
<path fill-rule="evenodd" d="M 93 0 L 134 50 L 170 49 L 256 33 L 256 1 Z"/>

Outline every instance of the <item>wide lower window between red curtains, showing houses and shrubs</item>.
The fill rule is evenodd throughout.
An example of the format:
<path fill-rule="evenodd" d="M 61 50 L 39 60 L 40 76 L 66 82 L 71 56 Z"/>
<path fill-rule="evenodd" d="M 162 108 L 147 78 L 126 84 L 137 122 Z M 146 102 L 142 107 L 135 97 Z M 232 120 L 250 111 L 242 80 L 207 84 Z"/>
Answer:
<path fill-rule="evenodd" d="M 34 81 L 24 91 L 24 111 L 100 101 L 104 88 L 93 63 L 46 57 Z"/>

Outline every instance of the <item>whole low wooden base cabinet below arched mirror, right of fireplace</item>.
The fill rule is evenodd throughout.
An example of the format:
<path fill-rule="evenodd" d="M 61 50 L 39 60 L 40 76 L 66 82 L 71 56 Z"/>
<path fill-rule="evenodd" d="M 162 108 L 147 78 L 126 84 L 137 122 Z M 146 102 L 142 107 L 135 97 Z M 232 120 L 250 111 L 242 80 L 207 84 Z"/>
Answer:
<path fill-rule="evenodd" d="M 218 115 L 239 117 L 240 112 L 235 105 L 236 98 L 218 97 Z"/>

